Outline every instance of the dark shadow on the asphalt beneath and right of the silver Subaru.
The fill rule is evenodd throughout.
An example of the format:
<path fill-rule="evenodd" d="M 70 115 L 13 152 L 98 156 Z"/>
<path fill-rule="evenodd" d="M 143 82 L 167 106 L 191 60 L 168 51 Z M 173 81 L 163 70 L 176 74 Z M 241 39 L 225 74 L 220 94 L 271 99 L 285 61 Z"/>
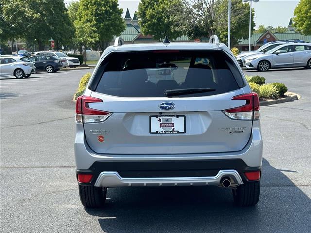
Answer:
<path fill-rule="evenodd" d="M 310 206 L 310 198 L 264 159 L 254 207 L 236 207 L 231 190 L 218 187 L 115 188 L 108 189 L 103 209 L 86 212 L 109 233 L 275 233 L 308 232 Z"/>

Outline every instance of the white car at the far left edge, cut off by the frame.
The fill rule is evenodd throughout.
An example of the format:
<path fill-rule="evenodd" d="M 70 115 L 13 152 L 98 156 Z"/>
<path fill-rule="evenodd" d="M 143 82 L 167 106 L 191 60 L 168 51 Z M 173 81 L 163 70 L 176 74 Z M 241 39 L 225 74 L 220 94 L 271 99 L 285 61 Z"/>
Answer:
<path fill-rule="evenodd" d="M 28 78 L 36 72 L 36 67 L 25 57 L 1 56 L 0 76 L 15 76 L 17 79 Z"/>

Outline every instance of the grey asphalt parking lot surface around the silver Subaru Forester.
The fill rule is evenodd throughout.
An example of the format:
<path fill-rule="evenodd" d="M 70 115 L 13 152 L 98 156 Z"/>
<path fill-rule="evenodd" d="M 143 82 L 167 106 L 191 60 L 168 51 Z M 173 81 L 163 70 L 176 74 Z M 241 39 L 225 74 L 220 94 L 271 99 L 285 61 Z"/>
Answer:
<path fill-rule="evenodd" d="M 104 209 L 79 200 L 72 96 L 92 70 L 0 79 L 0 232 L 310 232 L 311 70 L 261 75 L 300 100 L 261 107 L 261 196 L 237 208 L 217 187 L 109 189 Z"/>

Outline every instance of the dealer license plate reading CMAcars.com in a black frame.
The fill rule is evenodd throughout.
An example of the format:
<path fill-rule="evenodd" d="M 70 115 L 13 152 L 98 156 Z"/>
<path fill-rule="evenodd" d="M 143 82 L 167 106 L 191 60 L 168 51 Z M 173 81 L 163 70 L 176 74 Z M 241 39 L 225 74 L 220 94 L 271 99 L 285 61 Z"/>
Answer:
<path fill-rule="evenodd" d="M 185 115 L 150 116 L 149 132 L 156 134 L 186 133 L 186 116 Z"/>

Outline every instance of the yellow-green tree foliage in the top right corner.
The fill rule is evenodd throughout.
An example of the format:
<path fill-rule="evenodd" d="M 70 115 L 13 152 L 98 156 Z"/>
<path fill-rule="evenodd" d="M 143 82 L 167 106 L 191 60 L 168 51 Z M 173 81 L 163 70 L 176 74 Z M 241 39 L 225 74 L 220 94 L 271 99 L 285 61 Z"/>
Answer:
<path fill-rule="evenodd" d="M 294 28 L 304 35 L 311 35 L 311 0 L 300 0 L 294 16 Z"/>

